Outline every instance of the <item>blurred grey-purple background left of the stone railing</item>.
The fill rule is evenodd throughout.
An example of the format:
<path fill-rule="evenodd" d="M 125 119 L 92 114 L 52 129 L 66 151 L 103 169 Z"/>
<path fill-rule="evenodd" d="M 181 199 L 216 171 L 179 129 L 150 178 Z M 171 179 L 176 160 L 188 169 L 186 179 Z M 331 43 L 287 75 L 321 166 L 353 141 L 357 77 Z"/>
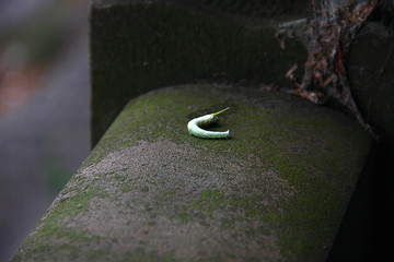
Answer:
<path fill-rule="evenodd" d="M 0 262 L 90 150 L 89 0 L 0 0 Z"/>

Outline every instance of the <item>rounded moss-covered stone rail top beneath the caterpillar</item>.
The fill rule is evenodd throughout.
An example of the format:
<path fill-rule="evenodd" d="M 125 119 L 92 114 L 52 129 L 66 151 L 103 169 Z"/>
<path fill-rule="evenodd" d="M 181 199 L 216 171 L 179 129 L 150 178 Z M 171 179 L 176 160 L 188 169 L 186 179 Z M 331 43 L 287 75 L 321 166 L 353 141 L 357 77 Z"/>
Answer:
<path fill-rule="evenodd" d="M 187 133 L 197 116 L 215 130 Z M 287 94 L 189 85 L 128 103 L 13 261 L 324 261 L 371 145 Z"/>

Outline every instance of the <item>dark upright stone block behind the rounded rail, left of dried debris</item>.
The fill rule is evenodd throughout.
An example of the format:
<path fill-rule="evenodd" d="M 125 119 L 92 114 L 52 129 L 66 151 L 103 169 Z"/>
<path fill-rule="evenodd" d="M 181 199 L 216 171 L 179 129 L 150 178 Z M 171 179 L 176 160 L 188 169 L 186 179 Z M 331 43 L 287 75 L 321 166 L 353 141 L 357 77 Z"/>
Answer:
<path fill-rule="evenodd" d="M 306 4 L 93 0 L 92 144 L 147 91 L 196 82 L 290 85 L 286 72 L 298 64 L 302 75 L 306 50 L 291 39 L 281 50 L 275 33 L 279 22 L 308 16 Z"/>

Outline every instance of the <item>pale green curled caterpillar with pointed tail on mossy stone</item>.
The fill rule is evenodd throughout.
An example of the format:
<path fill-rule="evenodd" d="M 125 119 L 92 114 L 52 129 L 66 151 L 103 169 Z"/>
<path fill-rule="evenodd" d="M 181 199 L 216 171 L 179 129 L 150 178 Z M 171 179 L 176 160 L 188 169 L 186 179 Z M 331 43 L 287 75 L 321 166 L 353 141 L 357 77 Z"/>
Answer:
<path fill-rule="evenodd" d="M 209 114 L 209 115 L 205 115 L 202 117 L 192 119 L 187 123 L 188 132 L 190 134 L 193 134 L 197 138 L 201 138 L 201 139 L 228 139 L 228 138 L 230 138 L 229 130 L 225 132 L 216 132 L 216 131 L 207 131 L 207 130 L 204 130 L 200 128 L 200 127 L 206 127 L 211 123 L 218 122 L 219 121 L 218 115 L 228 110 L 229 108 L 230 107 L 224 108 L 223 110 L 220 110 L 218 112 L 213 112 L 213 114 Z"/>

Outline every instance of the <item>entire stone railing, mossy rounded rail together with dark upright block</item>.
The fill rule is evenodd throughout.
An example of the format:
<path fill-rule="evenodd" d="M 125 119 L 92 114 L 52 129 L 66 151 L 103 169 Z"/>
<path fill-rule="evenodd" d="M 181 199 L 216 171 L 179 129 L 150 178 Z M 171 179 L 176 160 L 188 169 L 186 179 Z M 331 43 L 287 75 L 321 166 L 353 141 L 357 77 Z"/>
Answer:
<path fill-rule="evenodd" d="M 95 146 L 13 261 L 340 257 L 373 140 L 341 112 L 256 88 L 290 84 L 286 72 L 305 61 L 301 43 L 280 48 L 273 21 L 308 11 L 271 9 L 268 22 L 223 2 L 92 2 Z M 225 107 L 216 128 L 231 139 L 187 133 Z"/>

